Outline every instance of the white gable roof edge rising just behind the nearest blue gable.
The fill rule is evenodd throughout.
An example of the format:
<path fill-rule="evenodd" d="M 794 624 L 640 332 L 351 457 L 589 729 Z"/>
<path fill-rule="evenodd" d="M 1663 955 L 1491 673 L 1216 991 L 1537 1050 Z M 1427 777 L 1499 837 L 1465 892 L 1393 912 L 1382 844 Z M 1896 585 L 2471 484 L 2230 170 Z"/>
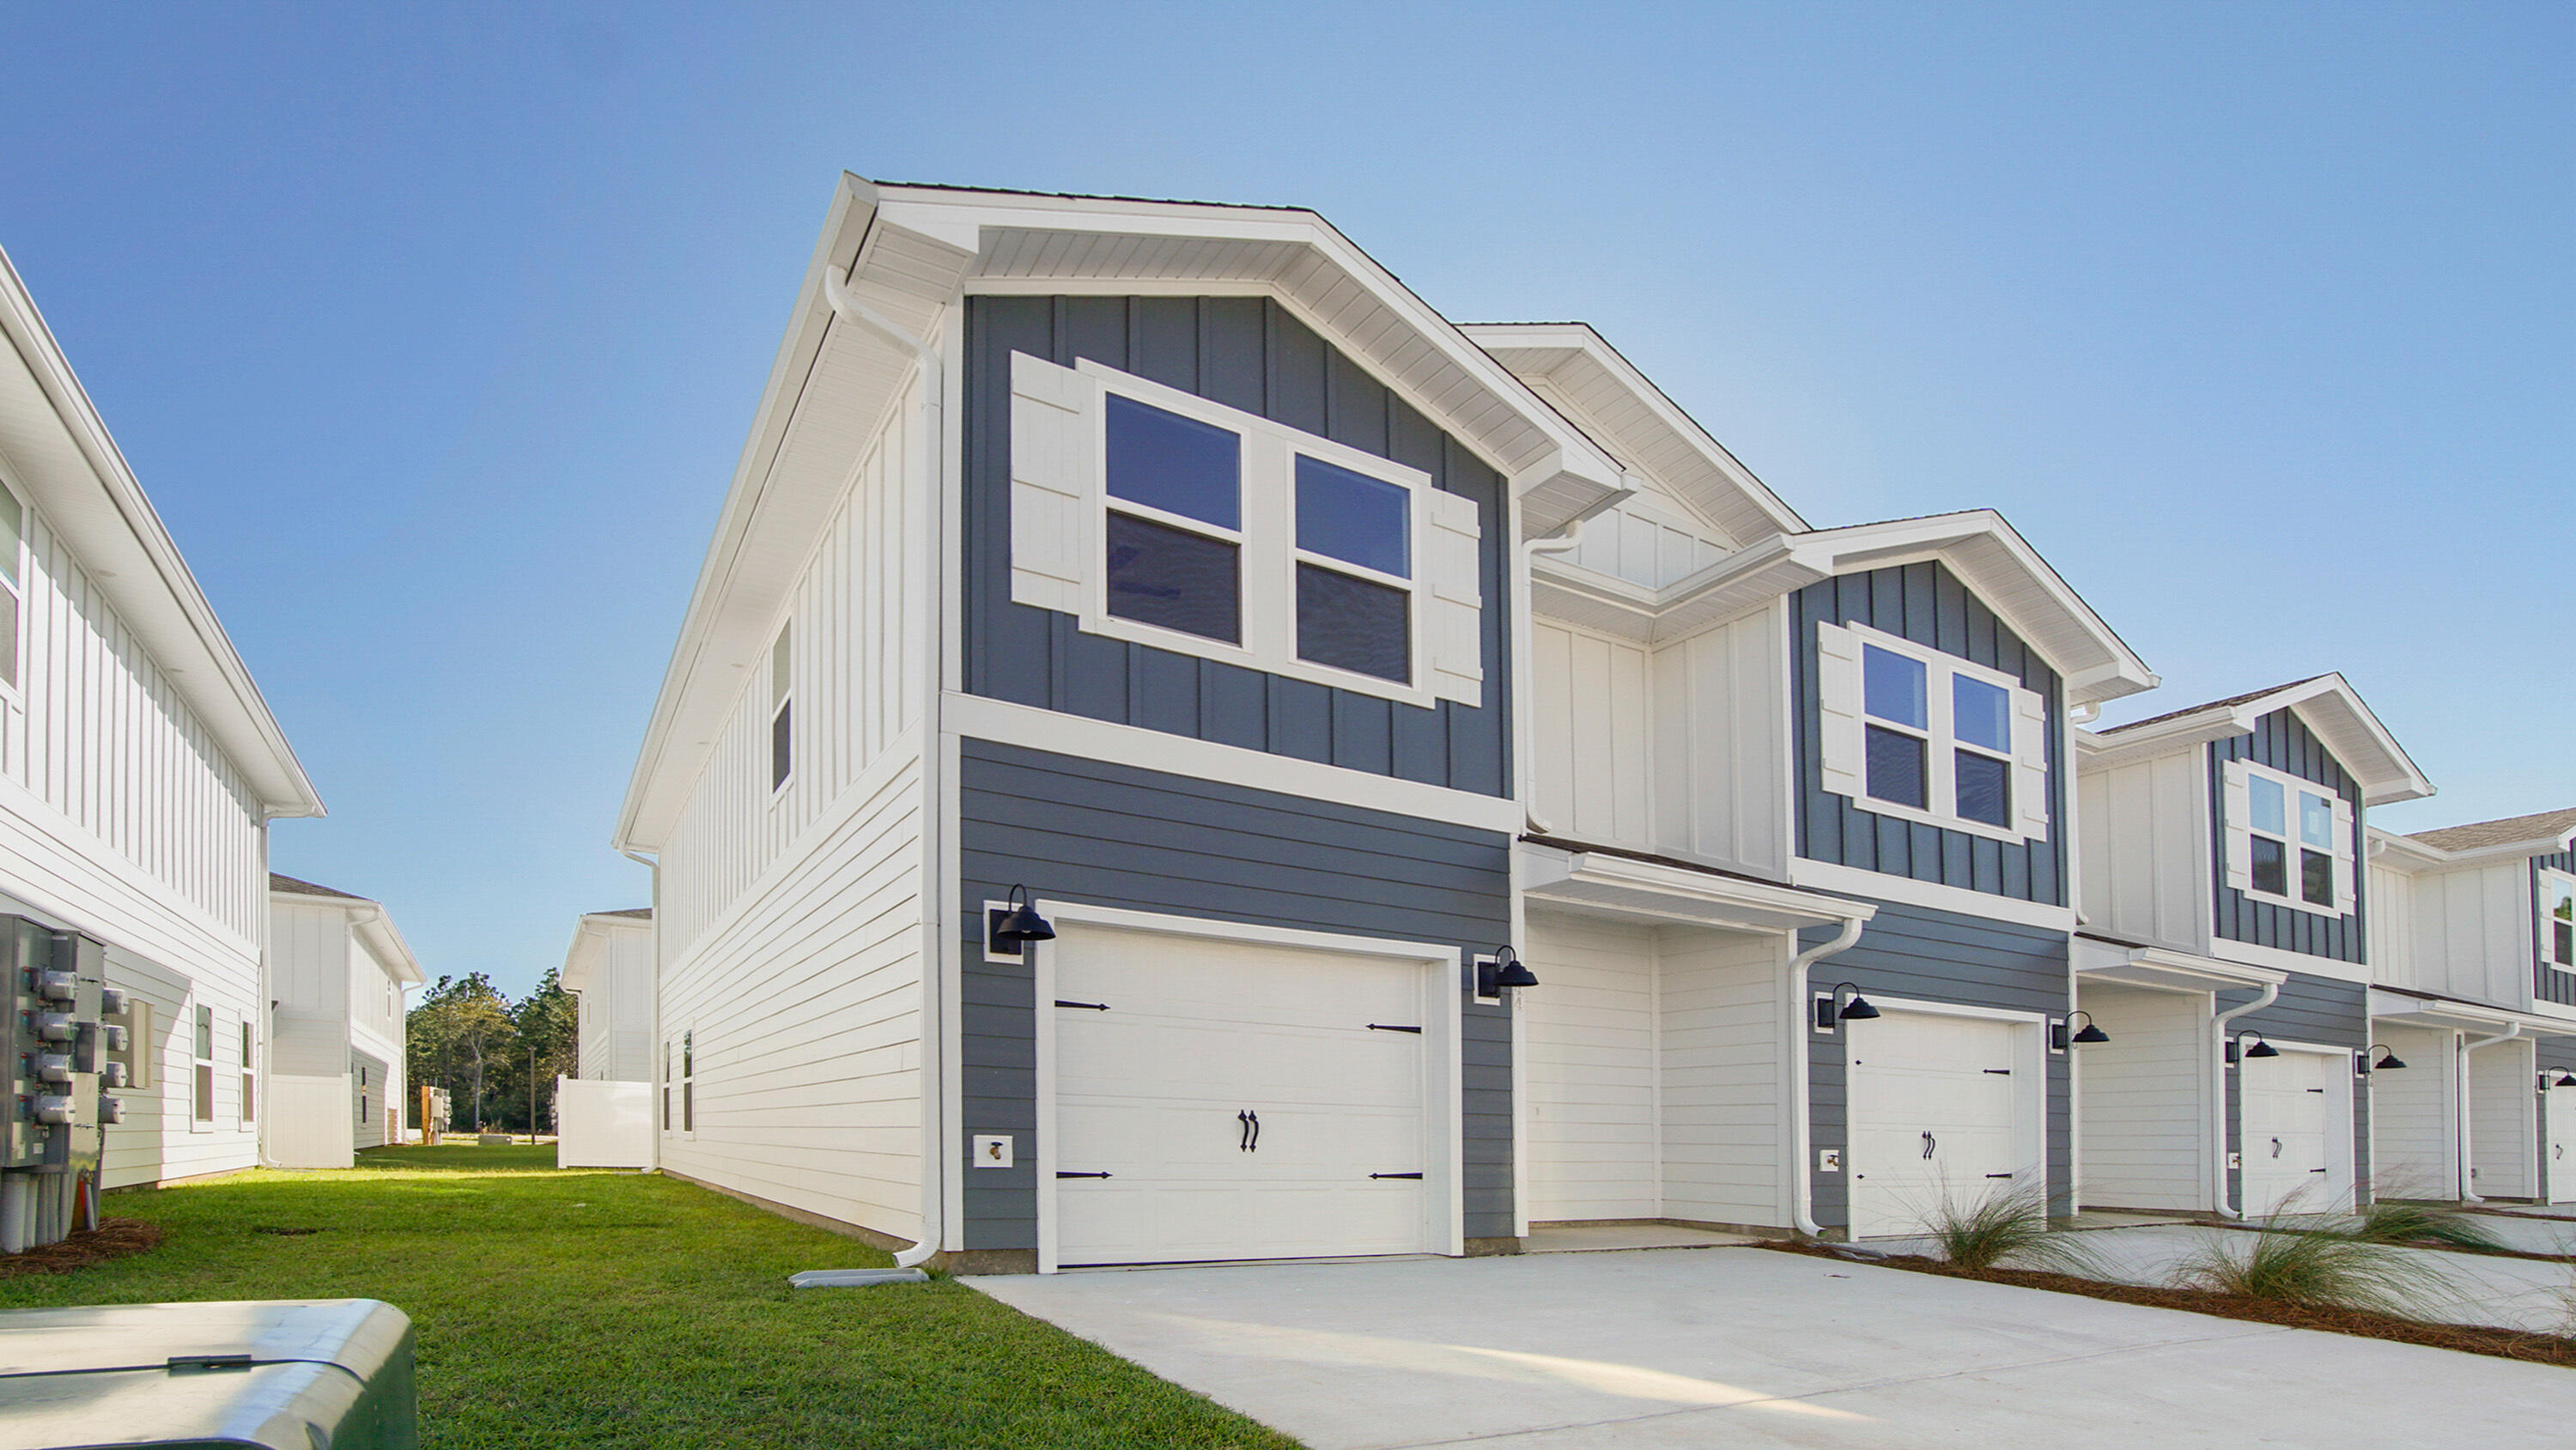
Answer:
<path fill-rule="evenodd" d="M 1623 466 L 1656 479 L 1695 507 L 1736 549 L 1808 531 L 1780 494 L 1664 397 L 1664 389 L 1592 325 L 1468 322 L 1461 330 Z"/>

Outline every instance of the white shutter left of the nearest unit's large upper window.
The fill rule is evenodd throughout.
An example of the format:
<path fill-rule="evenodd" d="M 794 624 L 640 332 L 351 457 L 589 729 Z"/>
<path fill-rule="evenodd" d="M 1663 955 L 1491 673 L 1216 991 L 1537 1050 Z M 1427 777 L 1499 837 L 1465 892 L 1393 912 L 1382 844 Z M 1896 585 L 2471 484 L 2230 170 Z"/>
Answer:
<path fill-rule="evenodd" d="M 1100 384 L 1028 353 L 1010 355 L 1010 600 L 1082 613 L 1092 538 Z"/>

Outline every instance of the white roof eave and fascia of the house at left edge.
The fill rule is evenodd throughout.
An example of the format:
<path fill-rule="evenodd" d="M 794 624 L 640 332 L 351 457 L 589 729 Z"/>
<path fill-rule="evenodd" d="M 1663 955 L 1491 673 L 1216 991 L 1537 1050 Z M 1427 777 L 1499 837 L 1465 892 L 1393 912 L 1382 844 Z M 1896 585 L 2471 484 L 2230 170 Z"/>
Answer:
<path fill-rule="evenodd" d="M 0 458 L 13 482 L 242 770 L 260 809 L 270 819 L 325 814 L 250 667 L 8 252 L 0 252 Z"/>

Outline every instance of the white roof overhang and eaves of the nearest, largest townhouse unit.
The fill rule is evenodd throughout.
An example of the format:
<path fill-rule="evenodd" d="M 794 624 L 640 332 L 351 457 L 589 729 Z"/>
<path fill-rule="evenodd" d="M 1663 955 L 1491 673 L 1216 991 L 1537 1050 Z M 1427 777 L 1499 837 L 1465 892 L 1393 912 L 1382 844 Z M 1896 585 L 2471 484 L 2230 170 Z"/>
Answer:
<path fill-rule="evenodd" d="M 667 840 L 850 469 L 951 301 L 969 288 L 1175 286 L 1275 299 L 1502 471 L 1533 533 L 1620 489 L 1607 451 L 1314 211 L 842 175 L 636 752 L 621 850 Z"/>

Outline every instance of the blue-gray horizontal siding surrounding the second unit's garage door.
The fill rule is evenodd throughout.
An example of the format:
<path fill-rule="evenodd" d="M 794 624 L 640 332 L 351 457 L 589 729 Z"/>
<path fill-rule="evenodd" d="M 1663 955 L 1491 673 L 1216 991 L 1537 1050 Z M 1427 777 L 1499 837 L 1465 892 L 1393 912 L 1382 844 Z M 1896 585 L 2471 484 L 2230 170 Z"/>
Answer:
<path fill-rule="evenodd" d="M 1798 932 L 1801 948 L 1834 940 L 1834 927 L 1806 927 Z M 2056 927 L 2025 927 L 1932 907 L 1906 907 L 1880 901 L 1878 914 L 1862 927 L 1860 940 L 1839 956 L 1816 963 L 1808 989 L 1824 992 L 1850 981 L 1862 997 L 1947 1002 L 1955 1007 L 1994 1007 L 2004 1012 L 2066 1015 L 2066 953 L 2069 937 Z M 1801 1012 L 1814 1007 L 1801 1004 Z M 1842 1033 L 1808 1033 L 1806 1084 L 1808 1084 L 1808 1136 L 1819 1149 L 1850 1146 L 1847 1115 L 1847 1038 Z M 2045 1053 L 2048 1061 L 2048 1210 L 2069 1213 L 2069 1185 L 2074 1144 L 2069 1123 L 2066 1053 Z M 1826 1229 L 1852 1221 L 1850 1174 L 1868 1164 L 1852 1164 L 1844 1154 L 1844 1172 L 1816 1172 L 1806 1164 L 1808 1192 L 1814 1195 L 1816 1223 Z"/>

